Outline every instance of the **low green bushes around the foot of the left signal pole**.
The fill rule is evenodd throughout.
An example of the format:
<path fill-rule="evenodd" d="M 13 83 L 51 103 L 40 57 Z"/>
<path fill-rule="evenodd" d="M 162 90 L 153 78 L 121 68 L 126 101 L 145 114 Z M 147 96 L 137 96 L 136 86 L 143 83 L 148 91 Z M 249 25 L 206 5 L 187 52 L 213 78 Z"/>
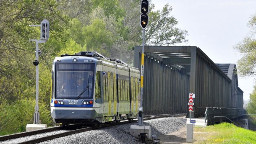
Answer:
<path fill-rule="evenodd" d="M 26 124 L 33 123 L 34 99 L 16 100 L 11 104 L 2 103 L 0 105 L 0 135 L 12 134 L 26 131 Z M 52 125 L 50 111 L 45 104 L 39 105 L 40 119 L 48 126 Z"/>

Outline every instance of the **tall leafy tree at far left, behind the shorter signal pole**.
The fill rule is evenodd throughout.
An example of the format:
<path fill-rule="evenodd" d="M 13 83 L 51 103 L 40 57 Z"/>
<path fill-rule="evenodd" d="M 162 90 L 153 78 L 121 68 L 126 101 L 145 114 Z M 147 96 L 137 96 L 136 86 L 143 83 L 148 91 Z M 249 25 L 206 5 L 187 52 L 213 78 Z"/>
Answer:
<path fill-rule="evenodd" d="M 57 10 L 55 0 L 0 1 L 0 134 L 24 131 L 33 123 L 35 102 L 35 43 L 39 28 L 29 27 L 43 19 L 50 21 L 50 39 L 40 44 L 40 119 L 52 125 L 50 118 L 50 72 L 52 56 L 67 41 L 63 35 L 68 18 Z M 68 27 L 68 26 L 67 26 Z M 66 37 L 64 37 L 66 36 Z M 43 87 L 44 86 L 44 87 Z"/>

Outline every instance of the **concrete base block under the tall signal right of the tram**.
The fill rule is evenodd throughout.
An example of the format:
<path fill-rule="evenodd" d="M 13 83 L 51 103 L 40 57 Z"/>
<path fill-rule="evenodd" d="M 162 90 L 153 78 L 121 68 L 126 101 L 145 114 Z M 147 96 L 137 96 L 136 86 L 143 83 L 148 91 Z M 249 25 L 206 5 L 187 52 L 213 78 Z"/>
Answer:
<path fill-rule="evenodd" d="M 147 139 L 151 139 L 151 127 L 150 126 L 138 126 L 131 125 L 130 134 L 137 139 L 140 139 L 140 133 L 147 133 Z"/>

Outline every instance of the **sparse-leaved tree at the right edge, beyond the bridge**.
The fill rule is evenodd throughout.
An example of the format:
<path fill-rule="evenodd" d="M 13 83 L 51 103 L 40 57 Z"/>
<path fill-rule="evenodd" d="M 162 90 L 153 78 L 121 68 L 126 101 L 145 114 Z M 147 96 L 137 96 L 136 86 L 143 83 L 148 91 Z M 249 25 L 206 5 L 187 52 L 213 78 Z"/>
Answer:
<path fill-rule="evenodd" d="M 242 76 L 256 76 L 256 14 L 248 23 L 251 32 L 235 46 L 243 57 L 238 60 L 238 73 Z"/>

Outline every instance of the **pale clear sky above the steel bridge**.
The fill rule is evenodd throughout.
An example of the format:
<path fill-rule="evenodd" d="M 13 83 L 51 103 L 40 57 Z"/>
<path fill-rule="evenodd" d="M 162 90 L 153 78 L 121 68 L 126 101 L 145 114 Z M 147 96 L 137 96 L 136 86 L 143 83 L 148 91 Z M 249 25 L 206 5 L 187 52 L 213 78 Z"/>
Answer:
<path fill-rule="evenodd" d="M 215 63 L 235 63 L 241 54 L 234 47 L 250 31 L 248 21 L 256 14 L 256 0 L 152 0 L 154 10 L 169 3 L 177 27 L 188 31 L 188 42 L 197 46 Z M 150 20 L 149 20 L 150 21 Z M 256 77 L 240 77 L 243 99 L 249 100 Z"/>

